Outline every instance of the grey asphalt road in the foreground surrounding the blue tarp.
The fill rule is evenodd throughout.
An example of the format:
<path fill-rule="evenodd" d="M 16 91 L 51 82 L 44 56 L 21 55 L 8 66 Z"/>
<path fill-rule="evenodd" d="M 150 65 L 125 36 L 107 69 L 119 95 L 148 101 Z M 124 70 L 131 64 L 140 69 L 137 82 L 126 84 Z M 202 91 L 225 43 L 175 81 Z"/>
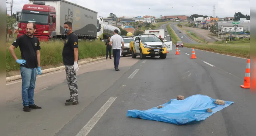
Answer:
<path fill-rule="evenodd" d="M 175 45 L 173 46 L 175 47 Z M 174 48 L 175 49 L 175 48 Z M 69 97 L 63 72 L 37 80 L 35 102 L 43 108 L 22 111 L 22 100 L 7 103 L 9 136 L 255 136 L 255 95 L 242 89 L 246 59 L 179 48 L 166 59 L 122 57 L 120 71 L 112 60 L 81 67 L 79 105 L 64 106 Z M 7 85 L 20 93 L 20 82 Z M 14 93 L 13 93 L 14 94 Z M 127 110 L 145 110 L 178 95 L 207 95 L 234 101 L 201 122 L 175 125 L 126 117 Z"/>

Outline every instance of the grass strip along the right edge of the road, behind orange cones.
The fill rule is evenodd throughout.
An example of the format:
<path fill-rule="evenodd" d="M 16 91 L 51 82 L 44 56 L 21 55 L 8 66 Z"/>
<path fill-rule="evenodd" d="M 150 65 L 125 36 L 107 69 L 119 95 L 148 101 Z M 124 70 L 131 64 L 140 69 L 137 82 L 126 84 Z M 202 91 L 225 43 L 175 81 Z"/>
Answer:
<path fill-rule="evenodd" d="M 250 44 L 233 44 L 233 45 L 220 45 L 220 44 L 184 44 L 184 47 L 195 48 L 220 54 L 231 56 L 250 58 Z"/>

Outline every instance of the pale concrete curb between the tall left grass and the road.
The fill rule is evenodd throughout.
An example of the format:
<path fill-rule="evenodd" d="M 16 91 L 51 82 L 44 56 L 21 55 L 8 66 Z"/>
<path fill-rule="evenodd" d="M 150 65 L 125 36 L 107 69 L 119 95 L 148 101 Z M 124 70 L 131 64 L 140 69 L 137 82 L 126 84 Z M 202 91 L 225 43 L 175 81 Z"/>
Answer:
<path fill-rule="evenodd" d="M 95 61 L 100 61 L 100 60 L 104 60 L 104 59 L 106 59 L 106 57 L 96 58 L 96 59 L 92 59 L 92 60 L 88 60 L 88 61 L 82 61 L 82 62 L 78 62 L 78 65 L 83 65 L 83 64 L 87 64 L 87 63 L 95 62 Z M 58 71 L 58 70 L 63 70 L 63 69 L 65 69 L 65 66 L 44 69 L 44 70 L 42 70 L 42 74 L 46 74 L 46 73 L 50 73 L 50 72 L 54 72 L 54 71 Z M 7 77 L 6 78 L 6 83 L 14 81 L 14 80 L 18 80 L 18 79 L 21 79 L 21 75 L 14 75 L 12 77 Z"/>

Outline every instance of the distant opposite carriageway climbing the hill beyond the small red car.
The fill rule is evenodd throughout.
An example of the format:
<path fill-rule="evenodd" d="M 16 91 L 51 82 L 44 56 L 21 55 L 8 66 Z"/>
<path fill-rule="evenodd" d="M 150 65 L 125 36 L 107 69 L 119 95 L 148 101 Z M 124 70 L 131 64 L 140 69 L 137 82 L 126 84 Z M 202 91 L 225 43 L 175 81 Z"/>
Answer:
<path fill-rule="evenodd" d="M 187 36 L 187 34 L 185 33 L 180 33 L 180 30 L 178 27 L 175 26 L 175 24 L 177 23 L 171 23 L 170 26 L 171 28 L 174 30 L 174 32 L 177 34 L 177 36 L 180 38 L 180 36 L 183 36 L 183 38 L 180 38 L 180 40 L 183 42 L 183 43 L 187 43 L 187 44 L 199 44 L 197 43 L 196 41 L 192 40 L 191 38 L 189 38 Z"/>

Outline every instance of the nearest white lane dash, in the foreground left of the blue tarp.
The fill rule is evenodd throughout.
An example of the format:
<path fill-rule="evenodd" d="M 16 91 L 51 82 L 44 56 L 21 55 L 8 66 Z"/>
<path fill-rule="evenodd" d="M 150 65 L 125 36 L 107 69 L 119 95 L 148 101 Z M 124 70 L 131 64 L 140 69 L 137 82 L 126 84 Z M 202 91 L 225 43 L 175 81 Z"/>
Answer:
<path fill-rule="evenodd" d="M 100 120 L 103 114 L 107 111 L 107 109 L 112 105 L 112 103 L 116 100 L 116 97 L 110 97 L 107 102 L 100 108 L 100 110 L 87 122 L 87 124 L 82 128 L 76 136 L 87 136 L 94 125 Z"/>

